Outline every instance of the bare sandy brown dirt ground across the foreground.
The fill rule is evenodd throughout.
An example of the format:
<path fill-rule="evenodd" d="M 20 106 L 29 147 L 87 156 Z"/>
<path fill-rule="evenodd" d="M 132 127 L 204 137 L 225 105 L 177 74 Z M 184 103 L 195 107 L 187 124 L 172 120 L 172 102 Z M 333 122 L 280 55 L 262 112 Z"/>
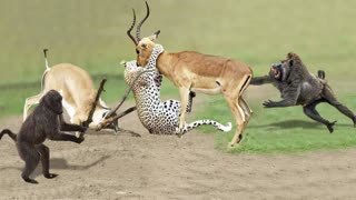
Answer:
<path fill-rule="evenodd" d="M 0 121 L 18 130 L 21 117 Z M 24 183 L 13 142 L 0 141 L 0 199 L 356 199 L 356 150 L 300 154 L 227 154 L 214 134 L 151 136 L 135 113 L 120 127 L 140 133 L 89 131 L 81 144 L 46 141 L 51 172 Z"/>

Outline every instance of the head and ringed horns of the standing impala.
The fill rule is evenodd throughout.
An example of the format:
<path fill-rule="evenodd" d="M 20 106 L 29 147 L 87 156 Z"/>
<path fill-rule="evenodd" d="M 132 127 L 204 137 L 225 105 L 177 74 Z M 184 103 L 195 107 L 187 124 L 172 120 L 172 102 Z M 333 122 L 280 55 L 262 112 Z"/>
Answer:
<path fill-rule="evenodd" d="M 149 17 L 149 7 L 148 3 L 146 1 L 146 9 L 147 9 L 147 14 L 146 17 L 137 24 L 137 29 L 136 29 L 136 39 L 132 37 L 131 34 L 131 30 L 135 27 L 136 23 L 136 13 L 135 10 L 134 11 L 134 22 L 131 24 L 131 27 L 129 28 L 129 30 L 127 31 L 127 34 L 129 36 L 129 38 L 134 41 L 135 46 L 136 46 L 136 53 L 137 53 L 137 64 L 138 66 L 142 66 L 145 67 L 149 60 L 149 57 L 151 56 L 151 52 L 155 48 L 155 40 L 158 38 L 159 34 L 159 30 L 156 31 L 154 34 L 146 37 L 146 38 L 141 38 L 140 37 L 140 31 L 141 31 L 141 26 L 144 24 L 144 22 L 147 20 L 147 18 Z"/>

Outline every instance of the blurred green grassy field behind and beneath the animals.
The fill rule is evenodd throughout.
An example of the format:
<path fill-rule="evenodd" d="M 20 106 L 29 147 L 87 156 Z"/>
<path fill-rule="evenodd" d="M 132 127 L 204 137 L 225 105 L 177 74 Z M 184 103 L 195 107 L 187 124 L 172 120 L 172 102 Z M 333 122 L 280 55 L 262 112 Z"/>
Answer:
<path fill-rule="evenodd" d="M 226 56 L 250 64 L 255 76 L 265 74 L 270 63 L 289 51 L 301 56 L 310 71 L 326 71 L 339 99 L 356 110 L 356 1 L 345 0 L 151 0 L 151 16 L 142 27 L 147 36 L 161 30 L 158 42 L 168 51 L 196 50 Z M 135 59 L 126 36 L 131 8 L 145 14 L 141 0 L 56 1 L 2 0 L 0 7 L 0 117 L 20 114 L 26 97 L 40 90 L 44 69 L 42 49 L 49 48 L 50 63 L 71 62 L 97 77 L 109 76 L 103 98 L 113 102 L 126 89 L 121 60 Z M 103 76 L 102 76 L 103 74 Z M 36 81 L 38 84 L 36 84 Z M 178 91 L 164 82 L 164 94 Z M 356 146 L 349 120 L 328 106 L 319 111 L 337 119 L 334 134 L 304 117 L 301 108 L 263 109 L 264 99 L 278 99 L 273 88 L 251 90 L 255 116 L 244 143 L 226 149 L 228 134 L 216 134 L 216 147 L 231 152 L 285 152 Z M 268 92 L 267 92 L 268 91 Z M 211 106 L 211 107 L 210 107 Z M 202 111 L 204 110 L 204 111 Z M 210 98 L 198 117 L 233 121 L 222 98 Z M 210 131 L 208 129 L 205 131 Z"/>

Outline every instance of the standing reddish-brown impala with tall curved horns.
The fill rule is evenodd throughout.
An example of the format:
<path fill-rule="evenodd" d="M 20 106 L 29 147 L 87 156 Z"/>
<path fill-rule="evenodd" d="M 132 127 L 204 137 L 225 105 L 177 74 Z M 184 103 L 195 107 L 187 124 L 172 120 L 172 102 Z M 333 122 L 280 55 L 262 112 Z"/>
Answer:
<path fill-rule="evenodd" d="M 137 63 L 139 66 L 147 64 L 155 47 L 155 40 L 160 32 L 157 31 L 150 37 L 140 38 L 140 28 L 149 17 L 147 2 L 146 8 L 147 14 L 137 26 L 136 39 L 131 36 L 136 22 L 135 10 L 134 22 L 127 31 L 136 46 Z M 162 52 L 157 60 L 157 69 L 179 88 L 181 100 L 179 130 L 182 130 L 186 123 L 186 108 L 190 90 L 207 94 L 222 93 L 238 126 L 230 144 L 240 142 L 244 129 L 253 113 L 243 99 L 243 93 L 253 78 L 249 66 L 229 58 L 182 51 Z"/>

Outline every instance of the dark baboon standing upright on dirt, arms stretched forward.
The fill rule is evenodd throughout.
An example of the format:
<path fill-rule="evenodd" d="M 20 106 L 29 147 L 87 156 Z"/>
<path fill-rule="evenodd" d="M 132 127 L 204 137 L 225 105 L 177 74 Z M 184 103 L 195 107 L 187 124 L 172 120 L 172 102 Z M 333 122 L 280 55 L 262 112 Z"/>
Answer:
<path fill-rule="evenodd" d="M 72 141 L 81 143 L 83 136 L 77 138 L 62 131 L 85 132 L 86 128 L 77 124 L 66 123 L 62 117 L 62 97 L 56 90 L 48 91 L 40 100 L 39 106 L 22 123 L 20 132 L 14 134 L 11 130 L 4 129 L 0 133 L 0 139 L 4 133 L 16 142 L 19 156 L 24 161 L 22 179 L 26 182 L 38 183 L 30 179 L 39 161 L 42 163 L 43 176 L 48 179 L 57 177 L 49 172 L 49 148 L 43 144 L 48 138 L 55 141 Z"/>

